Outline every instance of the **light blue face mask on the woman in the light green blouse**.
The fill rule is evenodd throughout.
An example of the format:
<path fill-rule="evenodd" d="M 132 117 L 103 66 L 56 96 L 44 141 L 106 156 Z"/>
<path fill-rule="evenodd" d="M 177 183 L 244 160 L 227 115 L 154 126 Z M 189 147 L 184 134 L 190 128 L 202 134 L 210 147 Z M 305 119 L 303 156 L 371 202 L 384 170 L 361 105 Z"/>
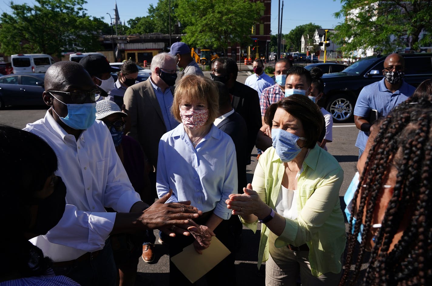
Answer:
<path fill-rule="evenodd" d="M 271 129 L 271 137 L 276 154 L 285 163 L 292 161 L 302 151 L 297 141 L 299 139 L 306 140 L 304 137 L 299 137 L 279 128 Z"/>

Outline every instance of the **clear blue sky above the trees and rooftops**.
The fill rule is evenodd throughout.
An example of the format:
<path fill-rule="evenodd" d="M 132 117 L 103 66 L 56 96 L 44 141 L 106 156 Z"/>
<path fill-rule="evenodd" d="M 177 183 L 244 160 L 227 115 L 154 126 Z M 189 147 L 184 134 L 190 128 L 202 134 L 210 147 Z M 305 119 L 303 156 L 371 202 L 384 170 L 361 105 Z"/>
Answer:
<path fill-rule="evenodd" d="M 34 3 L 29 0 L 14 0 L 16 4 L 20 3 Z M 87 9 L 87 14 L 96 17 L 104 17 L 105 22 L 110 23 L 109 16 L 106 13 L 110 13 L 114 17 L 114 0 L 87 0 L 87 4 L 84 8 Z M 2 12 L 10 12 L 8 0 L 0 0 Z M 135 17 L 146 16 L 147 9 L 150 4 L 156 6 L 158 0 L 119 0 L 117 2 L 118 12 L 120 15 L 121 22 Z M 282 0 L 281 0 L 282 6 Z M 287 34 L 291 29 L 296 26 L 307 24 L 309 22 L 320 25 L 323 29 L 332 29 L 341 22 L 343 19 L 335 19 L 333 14 L 340 10 L 340 0 L 309 0 L 309 1 L 284 1 L 283 7 L 283 22 L 282 22 L 282 33 Z M 278 1 L 272 1 L 271 9 L 271 30 L 272 34 L 277 33 L 277 10 Z"/>

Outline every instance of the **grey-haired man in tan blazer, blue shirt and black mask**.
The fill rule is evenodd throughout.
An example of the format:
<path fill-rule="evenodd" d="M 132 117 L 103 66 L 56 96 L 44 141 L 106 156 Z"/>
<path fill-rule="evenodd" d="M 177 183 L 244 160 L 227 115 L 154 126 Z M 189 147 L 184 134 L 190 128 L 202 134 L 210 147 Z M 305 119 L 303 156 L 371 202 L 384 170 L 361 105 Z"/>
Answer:
<path fill-rule="evenodd" d="M 159 140 L 164 133 L 174 129 L 179 123 L 170 110 L 177 78 L 175 57 L 168 53 L 160 53 L 152 58 L 151 69 L 152 75 L 146 81 L 127 88 L 124 93 L 124 104 L 130 120 L 130 132 L 127 135 L 140 142 L 154 169 L 150 171 L 149 178 L 152 186 L 150 196 L 155 198 Z M 142 258 L 150 263 L 154 259 L 153 247 L 156 237 L 152 231 L 148 231 L 147 235 Z"/>

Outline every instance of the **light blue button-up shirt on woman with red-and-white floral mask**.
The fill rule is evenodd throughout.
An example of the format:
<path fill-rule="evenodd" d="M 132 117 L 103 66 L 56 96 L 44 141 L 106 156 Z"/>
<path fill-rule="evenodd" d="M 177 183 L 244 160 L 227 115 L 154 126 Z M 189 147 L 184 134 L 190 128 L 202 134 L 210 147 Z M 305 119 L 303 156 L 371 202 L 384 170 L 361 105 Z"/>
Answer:
<path fill-rule="evenodd" d="M 191 201 L 203 212 L 231 217 L 225 200 L 237 192 L 237 161 L 231 137 L 212 124 L 210 132 L 192 146 L 183 124 L 159 141 L 156 190 L 159 198 L 172 189 L 167 202 Z"/>

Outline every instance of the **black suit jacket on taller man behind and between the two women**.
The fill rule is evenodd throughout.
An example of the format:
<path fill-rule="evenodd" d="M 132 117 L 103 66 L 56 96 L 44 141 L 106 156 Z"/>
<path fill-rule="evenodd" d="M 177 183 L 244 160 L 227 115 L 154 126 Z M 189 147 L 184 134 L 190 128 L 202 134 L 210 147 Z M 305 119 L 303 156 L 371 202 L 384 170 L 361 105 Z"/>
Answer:
<path fill-rule="evenodd" d="M 258 130 L 261 124 L 261 109 L 260 98 L 256 90 L 247 85 L 241 84 L 238 81 L 229 90 L 232 95 L 232 107 L 235 112 L 245 119 L 248 128 L 248 141 L 247 150 L 250 156 L 252 149 L 254 149 L 255 141 L 257 139 Z M 248 164 L 251 163 L 251 158 L 248 159 Z"/>

